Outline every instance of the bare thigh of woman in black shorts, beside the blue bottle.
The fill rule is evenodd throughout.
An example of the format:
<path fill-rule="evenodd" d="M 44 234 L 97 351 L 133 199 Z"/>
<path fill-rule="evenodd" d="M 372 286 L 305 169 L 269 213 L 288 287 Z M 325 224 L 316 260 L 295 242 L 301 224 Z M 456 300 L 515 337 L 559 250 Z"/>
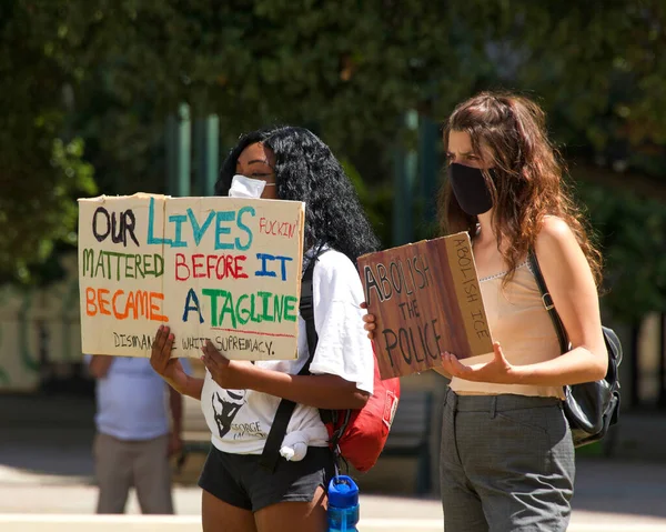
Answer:
<path fill-rule="evenodd" d="M 259 532 L 326 532 L 326 491 L 319 486 L 310 502 L 280 502 L 254 514 Z M 231 529 L 230 529 L 231 530 Z"/>

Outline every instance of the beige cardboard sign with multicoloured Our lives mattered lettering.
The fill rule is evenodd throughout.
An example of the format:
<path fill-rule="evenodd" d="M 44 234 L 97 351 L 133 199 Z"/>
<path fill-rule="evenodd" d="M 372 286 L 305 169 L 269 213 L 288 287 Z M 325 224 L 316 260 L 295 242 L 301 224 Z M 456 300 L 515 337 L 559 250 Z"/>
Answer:
<path fill-rule="evenodd" d="M 295 359 L 304 204 L 134 194 L 79 200 L 84 353 Z"/>

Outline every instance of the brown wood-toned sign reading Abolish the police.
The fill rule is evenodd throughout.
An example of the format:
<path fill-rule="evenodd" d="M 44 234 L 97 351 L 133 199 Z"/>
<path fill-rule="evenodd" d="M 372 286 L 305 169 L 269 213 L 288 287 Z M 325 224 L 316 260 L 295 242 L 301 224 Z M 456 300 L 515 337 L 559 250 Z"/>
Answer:
<path fill-rule="evenodd" d="M 359 258 L 382 379 L 493 351 L 467 233 Z"/>

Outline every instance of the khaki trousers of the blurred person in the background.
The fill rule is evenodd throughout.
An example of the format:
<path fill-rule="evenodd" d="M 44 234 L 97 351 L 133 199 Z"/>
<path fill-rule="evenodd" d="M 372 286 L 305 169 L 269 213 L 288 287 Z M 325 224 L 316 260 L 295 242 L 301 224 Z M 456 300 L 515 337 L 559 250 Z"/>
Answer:
<path fill-rule="evenodd" d="M 137 489 L 142 513 L 172 514 L 169 436 L 122 441 L 98 432 L 93 444 L 97 513 L 124 513 L 130 488 Z"/>

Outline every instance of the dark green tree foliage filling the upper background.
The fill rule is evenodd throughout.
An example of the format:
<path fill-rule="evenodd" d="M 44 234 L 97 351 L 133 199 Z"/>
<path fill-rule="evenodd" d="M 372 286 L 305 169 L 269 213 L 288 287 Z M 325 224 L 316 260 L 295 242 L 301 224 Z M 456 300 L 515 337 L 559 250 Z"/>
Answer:
<path fill-rule="evenodd" d="M 224 145 L 273 122 L 314 129 L 370 183 L 383 232 L 401 114 L 442 120 L 483 89 L 537 96 L 568 154 L 657 175 L 665 28 L 660 0 L 6 0 L 0 272 L 71 240 L 73 198 L 93 191 L 77 135 L 101 192 L 164 192 L 163 126 L 182 101 L 220 116 Z M 619 234 L 659 205 L 586 198 L 616 275 Z M 658 307 L 654 273 L 636 312 Z"/>

